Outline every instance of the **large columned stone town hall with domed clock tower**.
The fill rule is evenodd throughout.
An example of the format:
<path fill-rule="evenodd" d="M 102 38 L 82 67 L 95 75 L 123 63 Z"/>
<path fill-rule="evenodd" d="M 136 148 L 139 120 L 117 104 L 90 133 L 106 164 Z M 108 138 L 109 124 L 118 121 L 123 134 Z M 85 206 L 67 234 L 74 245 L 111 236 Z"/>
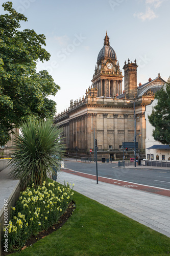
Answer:
<path fill-rule="evenodd" d="M 55 118 L 55 123 L 63 127 L 68 152 L 75 151 L 77 146 L 79 154 L 86 154 L 90 148 L 93 150 L 95 138 L 101 155 L 113 157 L 114 151 L 118 151 L 124 141 L 134 140 L 134 104 L 136 135 L 141 134 L 136 136 L 136 141 L 140 150 L 145 148 L 145 105 L 154 100 L 155 92 L 165 81 L 158 74 L 155 79 L 149 78 L 146 83 L 137 85 L 137 67 L 136 59 L 128 59 L 123 76 L 106 33 L 92 86 L 86 90 L 85 97 L 74 102 L 71 100 L 69 108 Z"/>

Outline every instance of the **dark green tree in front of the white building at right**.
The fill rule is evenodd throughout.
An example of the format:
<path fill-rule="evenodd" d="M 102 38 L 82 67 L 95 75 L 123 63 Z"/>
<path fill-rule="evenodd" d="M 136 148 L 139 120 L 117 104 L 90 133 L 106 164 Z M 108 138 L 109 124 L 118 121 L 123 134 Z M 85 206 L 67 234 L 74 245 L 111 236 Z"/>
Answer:
<path fill-rule="evenodd" d="M 149 121 L 155 127 L 153 137 L 162 144 L 170 144 L 170 77 L 165 86 L 155 94 L 158 100 Z"/>

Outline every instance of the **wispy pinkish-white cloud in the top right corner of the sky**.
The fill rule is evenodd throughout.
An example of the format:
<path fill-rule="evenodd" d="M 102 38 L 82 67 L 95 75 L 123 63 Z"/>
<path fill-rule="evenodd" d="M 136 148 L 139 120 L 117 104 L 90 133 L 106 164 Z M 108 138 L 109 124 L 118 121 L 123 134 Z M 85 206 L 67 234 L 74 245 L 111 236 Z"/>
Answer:
<path fill-rule="evenodd" d="M 159 8 L 161 4 L 166 0 L 145 0 L 145 12 L 135 12 L 134 17 L 145 20 L 151 20 L 157 18 L 158 15 L 155 13 L 155 9 Z"/>

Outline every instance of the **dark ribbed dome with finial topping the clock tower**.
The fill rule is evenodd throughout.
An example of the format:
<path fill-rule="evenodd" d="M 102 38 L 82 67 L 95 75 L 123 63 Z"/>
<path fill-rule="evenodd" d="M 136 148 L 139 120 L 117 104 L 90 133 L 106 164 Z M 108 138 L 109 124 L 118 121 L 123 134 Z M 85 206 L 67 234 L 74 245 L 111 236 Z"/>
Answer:
<path fill-rule="evenodd" d="M 116 59 L 116 53 L 113 50 L 113 48 L 110 46 L 109 37 L 107 35 L 107 32 L 106 32 L 106 36 L 104 39 L 104 47 L 100 50 L 100 53 L 98 55 L 98 61 L 105 57 Z"/>

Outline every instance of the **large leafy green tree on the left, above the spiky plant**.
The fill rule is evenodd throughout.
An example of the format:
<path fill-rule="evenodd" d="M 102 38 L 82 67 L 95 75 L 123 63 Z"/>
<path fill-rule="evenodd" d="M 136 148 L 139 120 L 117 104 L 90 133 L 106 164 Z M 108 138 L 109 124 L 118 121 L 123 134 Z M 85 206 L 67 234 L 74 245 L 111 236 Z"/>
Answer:
<path fill-rule="evenodd" d="M 0 144 L 29 116 L 53 118 L 56 103 L 48 96 L 60 89 L 46 70 L 36 72 L 37 61 L 50 59 L 42 48 L 45 36 L 18 30 L 27 18 L 12 8 L 12 2 L 3 7 L 9 14 L 0 15 Z"/>

